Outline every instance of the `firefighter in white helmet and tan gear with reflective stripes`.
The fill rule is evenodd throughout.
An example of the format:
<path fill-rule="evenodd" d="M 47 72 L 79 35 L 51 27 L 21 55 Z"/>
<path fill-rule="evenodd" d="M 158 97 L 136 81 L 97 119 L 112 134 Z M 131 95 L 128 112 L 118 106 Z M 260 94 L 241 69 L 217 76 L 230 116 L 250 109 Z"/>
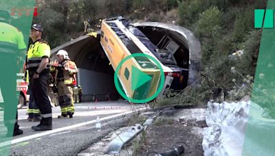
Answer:
<path fill-rule="evenodd" d="M 56 54 L 58 66 L 56 70 L 56 83 L 58 103 L 61 106 L 61 116 L 58 118 L 72 118 L 74 115 L 74 99 L 72 85 L 78 72 L 76 64 L 69 59 L 67 51 L 60 50 Z"/>

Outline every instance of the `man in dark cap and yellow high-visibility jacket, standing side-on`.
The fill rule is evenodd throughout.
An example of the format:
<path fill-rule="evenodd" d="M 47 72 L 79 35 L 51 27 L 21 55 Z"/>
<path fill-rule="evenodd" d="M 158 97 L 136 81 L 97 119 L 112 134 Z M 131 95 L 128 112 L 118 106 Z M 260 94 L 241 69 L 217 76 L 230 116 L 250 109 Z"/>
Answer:
<path fill-rule="evenodd" d="M 34 43 L 30 45 L 27 56 L 30 87 L 41 112 L 40 124 L 32 127 L 34 131 L 52 129 L 52 106 L 47 92 L 50 81 L 50 46 L 42 39 L 42 33 L 41 25 L 32 25 L 30 38 Z"/>

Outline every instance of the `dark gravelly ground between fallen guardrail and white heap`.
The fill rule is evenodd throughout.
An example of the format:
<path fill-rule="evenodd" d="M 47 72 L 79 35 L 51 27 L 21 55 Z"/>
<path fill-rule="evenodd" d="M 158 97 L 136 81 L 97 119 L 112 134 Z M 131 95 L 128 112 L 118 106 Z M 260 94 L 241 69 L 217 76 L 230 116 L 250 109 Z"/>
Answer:
<path fill-rule="evenodd" d="M 203 155 L 205 109 L 166 109 L 160 114 L 143 133 L 143 142 L 136 146 L 135 155 L 173 152 L 179 146 L 184 146 L 184 155 Z"/>

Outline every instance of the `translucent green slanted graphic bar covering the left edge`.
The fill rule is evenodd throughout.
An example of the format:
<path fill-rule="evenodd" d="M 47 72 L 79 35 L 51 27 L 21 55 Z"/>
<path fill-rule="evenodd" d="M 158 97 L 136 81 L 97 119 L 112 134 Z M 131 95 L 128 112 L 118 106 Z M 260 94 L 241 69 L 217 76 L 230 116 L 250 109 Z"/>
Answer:
<path fill-rule="evenodd" d="M 23 73 L 35 1 L 0 3 L 0 155 L 10 155 L 12 135 L 19 129 L 17 83 L 23 77 L 17 73 Z"/>

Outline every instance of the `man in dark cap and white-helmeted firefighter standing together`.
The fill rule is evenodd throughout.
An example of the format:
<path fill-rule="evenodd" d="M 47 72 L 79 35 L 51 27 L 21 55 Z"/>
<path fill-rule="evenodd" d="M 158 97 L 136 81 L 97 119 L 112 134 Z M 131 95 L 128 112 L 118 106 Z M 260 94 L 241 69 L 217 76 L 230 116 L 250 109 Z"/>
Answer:
<path fill-rule="evenodd" d="M 67 51 L 56 54 L 58 61 L 50 62 L 50 46 L 42 39 L 43 28 L 34 24 L 30 32 L 33 44 L 27 53 L 26 70 L 30 82 L 29 121 L 40 121 L 34 131 L 52 130 L 52 105 L 48 96 L 49 81 L 56 86 L 61 115 L 58 118 L 72 118 L 74 115 L 73 90 L 78 68 L 69 59 Z"/>

